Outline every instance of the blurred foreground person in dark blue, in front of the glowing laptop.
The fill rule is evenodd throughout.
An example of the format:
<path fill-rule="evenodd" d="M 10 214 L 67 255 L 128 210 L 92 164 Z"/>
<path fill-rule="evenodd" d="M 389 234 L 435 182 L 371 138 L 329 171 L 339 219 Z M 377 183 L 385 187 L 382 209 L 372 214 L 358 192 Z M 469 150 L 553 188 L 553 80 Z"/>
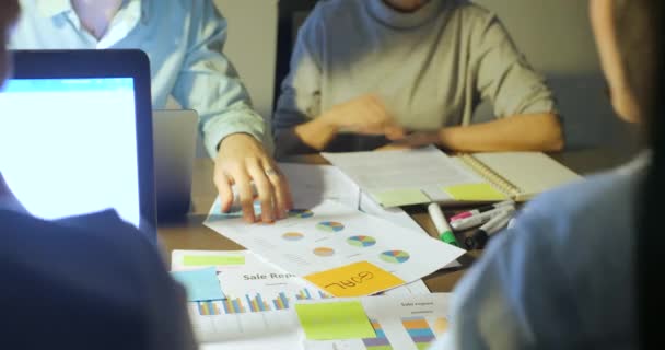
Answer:
<path fill-rule="evenodd" d="M 0 90 L 18 15 L 16 0 L 0 0 Z M 154 244 L 116 212 L 36 219 L 0 167 L 0 348 L 197 349 L 184 289 Z"/>

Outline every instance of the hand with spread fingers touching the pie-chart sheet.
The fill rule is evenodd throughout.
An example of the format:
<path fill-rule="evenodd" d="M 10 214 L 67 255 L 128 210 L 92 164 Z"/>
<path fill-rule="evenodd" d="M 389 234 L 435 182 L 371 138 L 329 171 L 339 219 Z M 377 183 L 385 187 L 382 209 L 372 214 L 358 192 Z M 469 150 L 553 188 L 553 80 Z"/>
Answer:
<path fill-rule="evenodd" d="M 256 186 L 261 203 L 261 221 L 273 222 L 276 219 L 283 219 L 292 209 L 285 177 L 254 137 L 235 133 L 224 138 L 214 163 L 214 185 L 220 192 L 222 211 L 228 212 L 231 209 L 231 186 L 235 185 L 243 218 L 247 222 L 256 222 L 252 183 Z"/>

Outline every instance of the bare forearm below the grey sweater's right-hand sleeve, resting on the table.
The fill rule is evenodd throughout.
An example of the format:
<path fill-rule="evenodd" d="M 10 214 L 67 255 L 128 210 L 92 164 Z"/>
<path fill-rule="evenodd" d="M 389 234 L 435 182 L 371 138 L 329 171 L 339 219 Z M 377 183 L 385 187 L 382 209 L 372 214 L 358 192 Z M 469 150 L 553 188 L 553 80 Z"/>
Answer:
<path fill-rule="evenodd" d="M 553 114 L 516 115 L 465 127 L 444 128 L 441 145 L 458 152 L 560 151 L 563 130 Z"/>

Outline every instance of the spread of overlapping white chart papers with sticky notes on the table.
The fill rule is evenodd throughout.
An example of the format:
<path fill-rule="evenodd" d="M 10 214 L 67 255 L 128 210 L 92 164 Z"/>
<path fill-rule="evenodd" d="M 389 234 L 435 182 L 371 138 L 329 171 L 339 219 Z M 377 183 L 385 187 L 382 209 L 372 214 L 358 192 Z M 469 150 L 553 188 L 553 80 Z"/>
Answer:
<path fill-rule="evenodd" d="M 205 223 L 250 252 L 173 252 L 201 349 L 421 349 L 435 339 L 448 295 L 421 278 L 465 252 L 334 166 L 280 168 L 301 208 L 288 219 L 248 225 L 215 203 Z"/>

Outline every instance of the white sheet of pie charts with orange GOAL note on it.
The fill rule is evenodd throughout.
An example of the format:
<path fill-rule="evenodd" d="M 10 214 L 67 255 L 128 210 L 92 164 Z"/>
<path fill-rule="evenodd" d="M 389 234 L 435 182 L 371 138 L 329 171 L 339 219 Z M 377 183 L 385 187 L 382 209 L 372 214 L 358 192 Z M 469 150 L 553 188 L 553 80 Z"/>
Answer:
<path fill-rule="evenodd" d="M 334 201 L 294 210 L 273 224 L 219 215 L 205 224 L 335 296 L 369 295 L 419 280 L 465 253 Z"/>

